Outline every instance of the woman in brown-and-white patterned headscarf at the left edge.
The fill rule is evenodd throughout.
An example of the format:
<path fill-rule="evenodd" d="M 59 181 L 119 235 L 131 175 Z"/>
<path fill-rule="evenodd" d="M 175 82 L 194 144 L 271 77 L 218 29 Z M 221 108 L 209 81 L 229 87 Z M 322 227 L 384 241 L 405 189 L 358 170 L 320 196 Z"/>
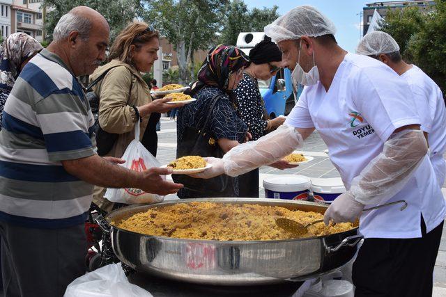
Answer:
<path fill-rule="evenodd" d="M 13 33 L 0 45 L 0 130 L 3 106 L 24 65 L 43 49 L 25 33 Z"/>

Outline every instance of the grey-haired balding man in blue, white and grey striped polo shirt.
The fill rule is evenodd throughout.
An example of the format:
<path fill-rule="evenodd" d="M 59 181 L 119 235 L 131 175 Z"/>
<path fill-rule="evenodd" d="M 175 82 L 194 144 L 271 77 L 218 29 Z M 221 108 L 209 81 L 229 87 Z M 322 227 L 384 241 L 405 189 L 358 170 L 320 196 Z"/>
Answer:
<path fill-rule="evenodd" d="M 93 115 L 76 77 L 105 60 L 107 21 L 77 7 L 54 41 L 22 70 L 0 132 L 0 235 L 6 296 L 62 296 L 85 273 L 86 211 L 93 184 L 176 193 L 167 168 L 144 172 L 95 153 Z M 114 162 L 114 163 L 113 163 Z"/>

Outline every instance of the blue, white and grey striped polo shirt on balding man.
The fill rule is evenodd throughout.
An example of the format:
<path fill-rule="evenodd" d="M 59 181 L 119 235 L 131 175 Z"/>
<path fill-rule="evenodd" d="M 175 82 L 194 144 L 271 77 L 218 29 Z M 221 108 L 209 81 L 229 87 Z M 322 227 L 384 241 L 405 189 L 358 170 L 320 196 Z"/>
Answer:
<path fill-rule="evenodd" d="M 84 223 L 93 185 L 61 161 L 95 154 L 93 114 L 82 86 L 47 49 L 17 78 L 0 131 L 0 220 L 26 227 Z"/>

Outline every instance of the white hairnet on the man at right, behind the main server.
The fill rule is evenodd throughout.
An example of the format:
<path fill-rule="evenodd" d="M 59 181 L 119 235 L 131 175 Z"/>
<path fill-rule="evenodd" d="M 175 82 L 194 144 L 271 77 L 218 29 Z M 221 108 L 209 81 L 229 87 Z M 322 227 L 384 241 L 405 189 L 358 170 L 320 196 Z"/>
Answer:
<path fill-rule="evenodd" d="M 356 48 L 356 54 L 365 56 L 378 56 L 399 51 L 398 43 L 389 34 L 383 31 L 372 31 L 364 35 Z"/>

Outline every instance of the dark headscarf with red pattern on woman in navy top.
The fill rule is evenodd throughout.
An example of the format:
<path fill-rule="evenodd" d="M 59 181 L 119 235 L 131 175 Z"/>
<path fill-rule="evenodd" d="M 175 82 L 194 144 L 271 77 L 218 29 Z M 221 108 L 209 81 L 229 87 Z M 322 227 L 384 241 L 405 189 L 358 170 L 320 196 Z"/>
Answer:
<path fill-rule="evenodd" d="M 198 79 L 206 85 L 227 90 L 231 74 L 248 64 L 248 56 L 238 47 L 217 45 L 209 51 L 208 57 L 198 72 Z"/>

